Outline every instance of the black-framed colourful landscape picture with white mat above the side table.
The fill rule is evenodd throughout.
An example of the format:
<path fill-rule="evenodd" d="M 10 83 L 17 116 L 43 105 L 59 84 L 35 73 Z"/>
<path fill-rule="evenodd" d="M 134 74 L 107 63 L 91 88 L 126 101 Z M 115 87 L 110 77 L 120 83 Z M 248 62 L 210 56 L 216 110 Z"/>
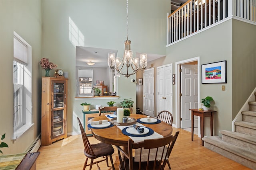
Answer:
<path fill-rule="evenodd" d="M 227 83 L 227 61 L 202 64 L 202 84 Z"/>

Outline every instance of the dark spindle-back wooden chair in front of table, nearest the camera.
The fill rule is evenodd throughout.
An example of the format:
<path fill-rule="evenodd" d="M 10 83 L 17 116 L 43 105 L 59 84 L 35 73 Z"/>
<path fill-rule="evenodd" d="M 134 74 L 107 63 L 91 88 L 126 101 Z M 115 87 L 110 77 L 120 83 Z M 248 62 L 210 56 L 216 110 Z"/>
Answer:
<path fill-rule="evenodd" d="M 164 170 L 179 133 L 178 131 L 174 136 L 169 135 L 160 139 L 148 139 L 139 143 L 133 143 L 132 139 L 129 139 L 128 153 L 121 147 L 116 146 L 119 161 L 122 162 L 120 164 L 121 168 L 125 170 Z M 133 156 L 132 149 L 140 150 L 138 158 Z M 146 155 L 142 154 L 142 150 L 145 149 L 147 149 Z"/>

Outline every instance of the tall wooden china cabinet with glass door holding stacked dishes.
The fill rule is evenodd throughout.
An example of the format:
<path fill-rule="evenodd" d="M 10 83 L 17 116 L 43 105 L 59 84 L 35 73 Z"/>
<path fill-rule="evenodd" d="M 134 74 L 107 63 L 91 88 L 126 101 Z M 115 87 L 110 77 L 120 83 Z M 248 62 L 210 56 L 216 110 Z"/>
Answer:
<path fill-rule="evenodd" d="M 67 90 L 67 78 L 42 77 L 42 146 L 67 137 Z"/>

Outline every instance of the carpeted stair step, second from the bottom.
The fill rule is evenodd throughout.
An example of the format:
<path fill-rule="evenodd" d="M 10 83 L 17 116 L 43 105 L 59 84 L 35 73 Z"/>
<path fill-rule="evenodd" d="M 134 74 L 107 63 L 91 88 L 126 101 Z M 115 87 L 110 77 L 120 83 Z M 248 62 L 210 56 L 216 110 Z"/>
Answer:
<path fill-rule="evenodd" d="M 240 132 L 220 131 L 222 141 L 256 152 L 256 137 Z"/>

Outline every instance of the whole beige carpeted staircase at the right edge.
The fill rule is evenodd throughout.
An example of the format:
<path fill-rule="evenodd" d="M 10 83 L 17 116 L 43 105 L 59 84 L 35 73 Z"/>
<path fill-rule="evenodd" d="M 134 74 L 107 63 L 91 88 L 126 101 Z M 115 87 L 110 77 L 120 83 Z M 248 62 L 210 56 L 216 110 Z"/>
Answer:
<path fill-rule="evenodd" d="M 256 93 L 255 100 L 256 100 Z M 236 131 L 220 131 L 222 137 L 204 137 L 204 147 L 256 170 L 256 102 L 248 102 L 242 121 L 234 123 Z"/>

